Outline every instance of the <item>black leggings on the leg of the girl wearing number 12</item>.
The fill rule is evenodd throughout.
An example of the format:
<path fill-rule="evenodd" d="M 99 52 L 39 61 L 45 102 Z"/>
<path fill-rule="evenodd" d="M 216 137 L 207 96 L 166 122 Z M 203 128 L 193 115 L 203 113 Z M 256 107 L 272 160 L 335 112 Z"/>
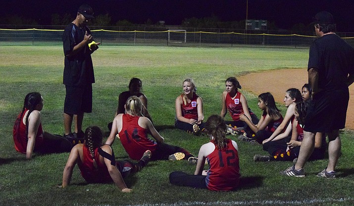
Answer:
<path fill-rule="evenodd" d="M 185 172 L 176 171 L 171 172 L 169 180 L 173 185 L 207 189 L 205 178 L 204 175 L 189 175 Z"/>

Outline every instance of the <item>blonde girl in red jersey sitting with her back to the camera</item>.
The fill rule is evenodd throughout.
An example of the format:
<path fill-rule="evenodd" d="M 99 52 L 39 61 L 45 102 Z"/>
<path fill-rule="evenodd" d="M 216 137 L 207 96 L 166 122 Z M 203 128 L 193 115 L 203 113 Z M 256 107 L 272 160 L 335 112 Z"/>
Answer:
<path fill-rule="evenodd" d="M 193 157 L 187 150 L 164 143 L 164 138 L 153 127 L 152 122 L 142 114 L 143 104 L 137 96 L 129 97 L 125 104 L 125 113 L 118 114 L 106 144 L 112 145 L 116 134 L 129 157 L 140 159 L 144 151 L 152 152 L 152 160 L 180 160 Z M 156 140 L 151 140 L 148 133 Z"/>

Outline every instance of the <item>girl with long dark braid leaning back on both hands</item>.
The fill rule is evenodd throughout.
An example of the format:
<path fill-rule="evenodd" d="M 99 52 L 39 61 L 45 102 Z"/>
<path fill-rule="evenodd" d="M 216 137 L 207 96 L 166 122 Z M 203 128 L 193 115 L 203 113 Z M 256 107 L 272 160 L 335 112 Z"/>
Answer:
<path fill-rule="evenodd" d="M 130 173 L 140 171 L 151 157 L 151 151 L 146 150 L 138 163 L 128 160 L 116 161 L 112 148 L 102 145 L 102 132 L 99 127 L 89 127 L 85 131 L 85 143 L 76 144 L 70 152 L 69 159 L 63 171 L 62 188 L 69 185 L 73 169 L 77 164 L 82 177 L 88 183 L 114 182 L 122 192 L 131 192 L 123 178 Z"/>

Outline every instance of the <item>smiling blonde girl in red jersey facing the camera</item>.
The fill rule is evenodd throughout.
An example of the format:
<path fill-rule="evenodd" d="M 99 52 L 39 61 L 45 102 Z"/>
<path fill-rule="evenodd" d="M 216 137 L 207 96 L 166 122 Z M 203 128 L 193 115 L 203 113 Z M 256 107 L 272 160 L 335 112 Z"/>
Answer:
<path fill-rule="evenodd" d="M 176 98 L 175 127 L 194 135 L 201 135 L 204 130 L 203 101 L 196 94 L 196 90 L 193 79 L 183 81 L 183 93 Z"/>

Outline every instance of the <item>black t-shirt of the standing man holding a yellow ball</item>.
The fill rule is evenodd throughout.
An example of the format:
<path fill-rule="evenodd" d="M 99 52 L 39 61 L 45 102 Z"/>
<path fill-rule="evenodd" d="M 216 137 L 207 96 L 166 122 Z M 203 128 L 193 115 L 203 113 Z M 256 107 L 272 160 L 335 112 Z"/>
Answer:
<path fill-rule="evenodd" d="M 87 26 L 82 28 L 70 23 L 63 33 L 63 49 L 64 49 L 64 74 L 63 84 L 67 86 L 85 86 L 95 82 L 94 67 L 91 59 L 91 51 L 86 45 L 75 56 L 68 58 L 66 55 L 70 53 L 74 46 L 84 40 L 85 32 L 91 34 Z"/>

